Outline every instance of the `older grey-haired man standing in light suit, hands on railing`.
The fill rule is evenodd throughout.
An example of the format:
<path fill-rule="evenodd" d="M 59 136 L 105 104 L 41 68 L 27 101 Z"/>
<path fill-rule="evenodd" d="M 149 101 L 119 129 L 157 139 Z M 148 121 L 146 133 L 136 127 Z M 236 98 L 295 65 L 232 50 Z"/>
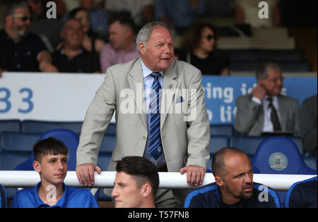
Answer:
<path fill-rule="evenodd" d="M 187 173 L 189 185 L 203 182 L 210 129 L 201 72 L 174 61 L 165 23 L 148 23 L 136 39 L 140 57 L 107 69 L 81 131 L 76 173 L 92 185 L 102 136 L 114 111 L 117 140 L 108 171 L 125 156 L 144 156 L 158 171 Z M 186 190 L 159 189 L 157 206 L 182 206 Z M 110 191 L 107 191 L 110 194 Z"/>

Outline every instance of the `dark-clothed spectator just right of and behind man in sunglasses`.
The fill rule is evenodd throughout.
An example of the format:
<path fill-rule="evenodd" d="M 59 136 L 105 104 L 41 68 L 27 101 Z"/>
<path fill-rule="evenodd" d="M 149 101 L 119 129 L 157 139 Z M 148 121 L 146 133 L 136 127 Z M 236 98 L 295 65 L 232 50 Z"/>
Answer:
<path fill-rule="evenodd" d="M 47 49 L 53 52 L 57 48 L 57 44 L 61 42 L 59 32 L 63 25 L 62 21 L 57 19 L 48 19 L 46 16 L 46 7 L 43 0 L 28 0 L 33 22 L 31 31 L 39 35 Z"/>

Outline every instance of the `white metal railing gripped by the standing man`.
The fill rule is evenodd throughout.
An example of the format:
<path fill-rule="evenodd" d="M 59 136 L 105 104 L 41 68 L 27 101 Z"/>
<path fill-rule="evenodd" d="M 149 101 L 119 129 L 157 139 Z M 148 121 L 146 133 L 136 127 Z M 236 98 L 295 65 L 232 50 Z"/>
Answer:
<path fill-rule="evenodd" d="M 116 172 L 103 171 L 95 173 L 95 183 L 92 187 L 113 187 Z M 254 182 L 267 185 L 274 190 L 288 190 L 293 183 L 312 178 L 316 175 L 298 174 L 257 174 Z M 160 188 L 193 188 L 187 185 L 187 175 L 180 173 L 159 173 Z M 0 171 L 0 183 L 4 187 L 33 187 L 40 181 L 40 175 L 35 171 Z M 203 185 L 215 182 L 212 173 L 206 173 Z M 84 187 L 78 182 L 76 171 L 68 171 L 64 183 L 73 187 Z"/>

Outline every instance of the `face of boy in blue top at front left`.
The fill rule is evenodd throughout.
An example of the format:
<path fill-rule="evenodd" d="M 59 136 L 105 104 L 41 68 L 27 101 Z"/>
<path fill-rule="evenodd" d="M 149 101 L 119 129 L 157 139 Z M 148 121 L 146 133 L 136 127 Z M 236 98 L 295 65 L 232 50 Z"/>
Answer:
<path fill-rule="evenodd" d="M 43 156 L 40 162 L 35 162 L 33 166 L 35 171 L 40 173 L 41 181 L 45 180 L 51 185 L 63 183 L 67 173 L 67 155 L 48 154 Z"/>

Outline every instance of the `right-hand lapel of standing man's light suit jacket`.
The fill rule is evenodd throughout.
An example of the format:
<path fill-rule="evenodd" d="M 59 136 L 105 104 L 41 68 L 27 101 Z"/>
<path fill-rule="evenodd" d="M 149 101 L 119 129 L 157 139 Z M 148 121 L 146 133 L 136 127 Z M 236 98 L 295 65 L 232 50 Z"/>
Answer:
<path fill-rule="evenodd" d="M 163 73 L 163 90 L 167 90 L 163 93 L 163 97 L 161 98 L 161 108 L 160 108 L 160 129 L 163 128 L 163 124 L 165 123 L 165 118 L 167 117 L 167 113 L 170 109 L 173 99 L 175 98 L 175 91 L 177 89 L 177 75 L 172 68 L 172 65 L 165 70 Z M 167 95 L 164 98 L 164 95 Z"/>

